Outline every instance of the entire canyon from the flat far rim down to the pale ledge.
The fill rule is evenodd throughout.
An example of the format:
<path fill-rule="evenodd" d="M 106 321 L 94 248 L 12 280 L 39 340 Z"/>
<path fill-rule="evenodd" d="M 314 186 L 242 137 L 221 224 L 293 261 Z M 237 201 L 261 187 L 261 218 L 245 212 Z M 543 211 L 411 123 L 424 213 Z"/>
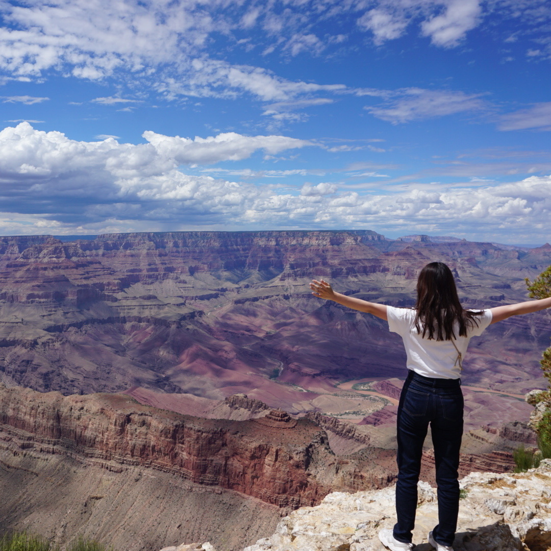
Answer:
<path fill-rule="evenodd" d="M 433 260 L 478 309 L 526 300 L 551 245 L 369 230 L 0 237 L 0 531 L 230 551 L 331 491 L 391 484 L 401 339 L 307 284 L 407 307 Z M 549 334 L 539 312 L 473 339 L 462 476 L 510 471 L 511 451 L 535 445 L 523 396 L 545 387 Z M 433 465 L 428 439 L 431 484 Z"/>

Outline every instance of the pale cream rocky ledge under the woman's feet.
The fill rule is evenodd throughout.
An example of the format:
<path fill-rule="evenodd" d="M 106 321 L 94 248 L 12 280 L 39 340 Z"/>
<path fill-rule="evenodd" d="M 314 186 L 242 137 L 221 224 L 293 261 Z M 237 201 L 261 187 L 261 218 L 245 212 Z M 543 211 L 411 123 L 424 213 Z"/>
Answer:
<path fill-rule="evenodd" d="M 545 551 L 551 547 L 551 460 L 526 473 L 471 473 L 461 480 L 456 551 Z M 395 522 L 395 487 L 334 492 L 316 507 L 302 507 L 269 538 L 243 551 L 383 551 L 381 528 Z M 436 490 L 419 483 L 415 551 L 429 551 L 427 533 L 437 523 Z M 215 551 L 209 543 L 163 551 Z"/>

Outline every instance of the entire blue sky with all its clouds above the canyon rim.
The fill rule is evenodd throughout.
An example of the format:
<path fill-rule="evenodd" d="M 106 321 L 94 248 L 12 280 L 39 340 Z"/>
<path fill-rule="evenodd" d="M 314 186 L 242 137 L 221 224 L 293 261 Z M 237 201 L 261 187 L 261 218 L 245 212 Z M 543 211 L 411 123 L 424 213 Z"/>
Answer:
<path fill-rule="evenodd" d="M 0 4 L 0 234 L 543 244 L 543 0 Z"/>

